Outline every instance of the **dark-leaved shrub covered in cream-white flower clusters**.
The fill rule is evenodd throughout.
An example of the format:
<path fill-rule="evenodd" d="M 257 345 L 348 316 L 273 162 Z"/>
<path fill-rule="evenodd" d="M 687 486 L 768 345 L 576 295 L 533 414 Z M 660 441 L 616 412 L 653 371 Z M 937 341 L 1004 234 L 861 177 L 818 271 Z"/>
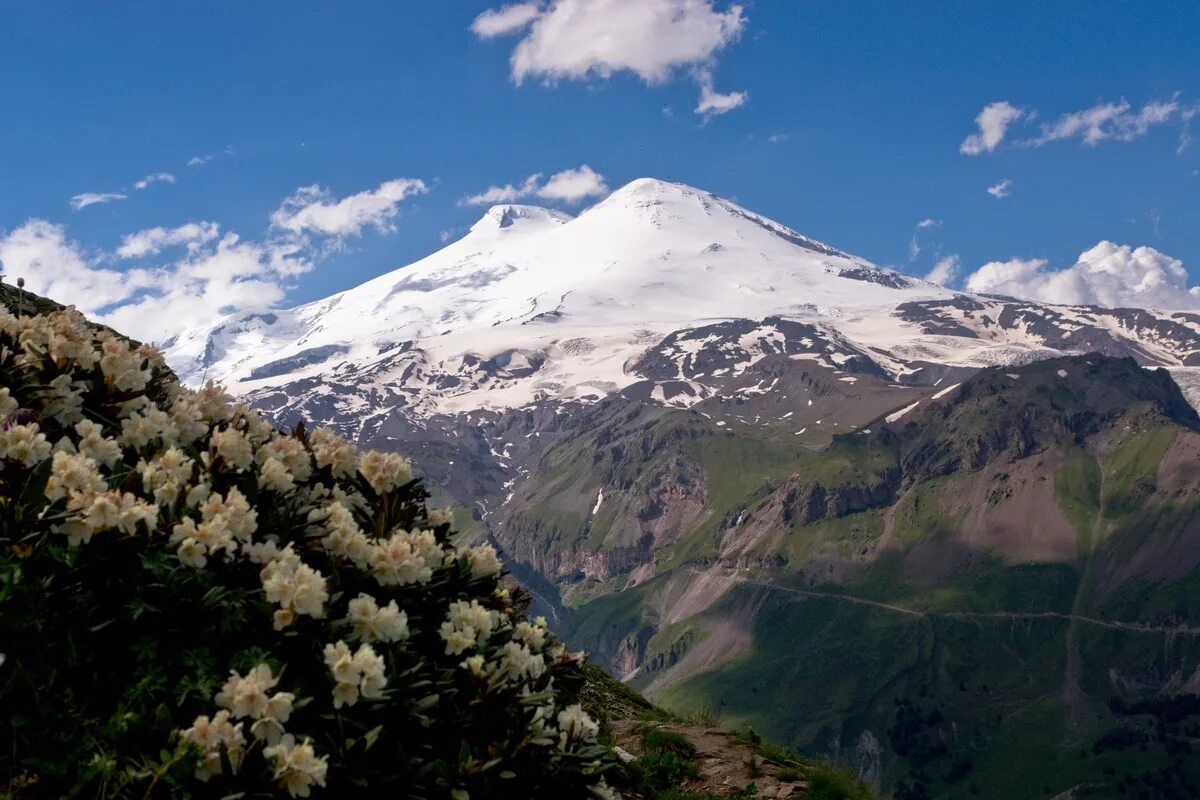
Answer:
<path fill-rule="evenodd" d="M 0 311 L 0 795 L 608 796 L 580 658 L 426 498 Z"/>

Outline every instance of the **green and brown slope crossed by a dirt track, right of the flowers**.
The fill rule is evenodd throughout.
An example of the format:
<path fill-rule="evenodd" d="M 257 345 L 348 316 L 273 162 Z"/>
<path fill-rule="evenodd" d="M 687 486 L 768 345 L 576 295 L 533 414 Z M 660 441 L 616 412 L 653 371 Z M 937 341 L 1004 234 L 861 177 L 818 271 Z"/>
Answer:
<path fill-rule="evenodd" d="M 726 463 L 749 488 L 706 498 L 647 565 L 599 589 L 560 577 L 568 637 L 652 697 L 719 705 L 896 796 L 1109 796 L 1104 768 L 1132 764 L 1200 780 L 1181 750 L 1200 721 L 1195 411 L 1165 373 L 1102 356 L 926 403 L 790 462 Z"/>

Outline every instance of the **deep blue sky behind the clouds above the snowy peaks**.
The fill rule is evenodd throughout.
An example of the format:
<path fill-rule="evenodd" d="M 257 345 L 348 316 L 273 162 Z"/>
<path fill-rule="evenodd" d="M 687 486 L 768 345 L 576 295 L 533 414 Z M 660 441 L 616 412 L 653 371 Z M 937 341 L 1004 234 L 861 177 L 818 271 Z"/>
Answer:
<path fill-rule="evenodd" d="M 637 5 L 523 6 L 548 17 L 589 1 L 607 6 L 593 26 Z M 290 303 L 436 249 L 442 231 L 481 215 L 468 196 L 587 164 L 612 188 L 642 175 L 707 188 L 916 275 L 952 254 L 959 282 L 986 261 L 1066 267 L 1112 240 L 1200 278 L 1200 142 L 1181 148 L 1187 127 L 1200 139 L 1200 116 L 1184 119 L 1200 103 L 1194 2 L 655 4 L 724 20 L 719 43 L 689 50 L 694 30 L 653 23 L 660 30 L 642 34 L 655 47 L 643 50 L 683 47 L 674 62 L 610 50 L 580 78 L 589 65 L 572 64 L 578 48 L 553 41 L 547 23 L 520 85 L 510 58 L 534 29 L 472 30 L 498 2 L 0 4 L 0 237 L 42 221 L 79 269 L 173 270 L 181 247 L 113 253 L 136 231 L 185 223 L 216 223 L 244 243 L 280 239 L 271 213 L 300 187 L 323 187 L 319 203 L 334 205 L 424 181 L 395 216 L 358 230 L 296 227 L 305 241 L 289 246 L 305 248 L 304 265 L 271 278 L 283 297 L 263 295 Z M 607 34 L 559 28 L 580 41 Z M 695 113 L 704 83 L 737 107 Z M 1121 101 L 1128 108 L 1112 108 Z M 998 102 L 1021 115 L 994 150 L 961 152 Z M 1105 104 L 1094 143 L 1060 126 L 1060 138 L 1030 144 Z M 1139 125 L 1147 104 L 1158 104 L 1150 116 L 1172 108 Z M 174 181 L 133 188 L 158 173 Z M 988 193 L 1004 180 L 1007 197 Z M 74 210 L 85 193 L 126 197 Z M 575 211 L 594 199 L 527 201 Z M 917 230 L 926 218 L 940 224 Z M 11 272 L 20 252 L 8 251 Z M 47 259 L 25 269 L 49 285 Z M 157 291 L 128 281 L 92 307 Z"/>

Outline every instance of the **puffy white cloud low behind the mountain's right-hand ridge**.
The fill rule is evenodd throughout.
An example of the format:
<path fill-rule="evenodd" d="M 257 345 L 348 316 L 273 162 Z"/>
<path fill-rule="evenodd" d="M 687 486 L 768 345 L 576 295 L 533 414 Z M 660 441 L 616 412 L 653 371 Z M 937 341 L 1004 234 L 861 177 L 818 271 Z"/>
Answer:
<path fill-rule="evenodd" d="M 1200 287 L 1188 287 L 1182 261 L 1153 247 L 1102 241 L 1062 270 L 1045 259 L 990 261 L 970 275 L 968 291 L 1038 302 L 1140 308 L 1200 308 Z"/>

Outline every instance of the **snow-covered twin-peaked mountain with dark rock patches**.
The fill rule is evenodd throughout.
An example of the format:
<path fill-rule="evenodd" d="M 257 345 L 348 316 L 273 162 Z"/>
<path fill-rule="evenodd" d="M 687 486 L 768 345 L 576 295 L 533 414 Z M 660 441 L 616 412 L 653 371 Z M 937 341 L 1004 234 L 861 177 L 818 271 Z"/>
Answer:
<path fill-rule="evenodd" d="M 733 338 L 677 333 L 767 318 L 805 332 L 790 341 L 763 324 Z M 640 179 L 577 217 L 494 206 L 415 264 L 193 331 L 168 359 L 185 380 L 242 395 L 302 384 L 276 396 L 281 413 L 319 396 L 326 413 L 365 421 L 397 408 L 415 419 L 595 401 L 647 379 L 638 365 L 652 350 L 664 385 L 647 397 L 674 405 L 719 393 L 722 369 L 728 378 L 775 351 L 835 369 L 866 359 L 896 384 L 931 384 L 947 368 L 1100 350 L 1177 369 L 1188 387 L 1200 381 L 1180 368 L 1200 366 L 1200 315 L 953 291 L 708 192 Z M 704 368 L 714 354 L 724 367 Z"/>

